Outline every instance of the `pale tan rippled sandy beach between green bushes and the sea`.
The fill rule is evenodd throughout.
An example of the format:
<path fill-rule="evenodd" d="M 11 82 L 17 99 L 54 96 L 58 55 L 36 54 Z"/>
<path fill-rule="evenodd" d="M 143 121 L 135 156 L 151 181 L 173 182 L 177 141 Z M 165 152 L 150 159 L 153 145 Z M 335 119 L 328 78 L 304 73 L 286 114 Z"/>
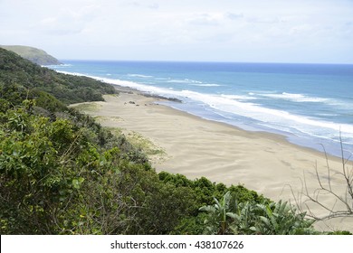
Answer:
<path fill-rule="evenodd" d="M 283 136 L 249 132 L 223 123 L 195 117 L 158 104 L 162 98 L 148 98 L 138 92 L 105 96 L 105 102 L 73 105 L 96 117 L 102 126 L 116 127 L 127 136 L 138 135 L 155 153 L 150 159 L 157 172 L 181 173 L 190 179 L 207 177 L 212 182 L 243 184 L 273 201 L 293 201 L 305 181 L 308 191 L 319 187 L 315 169 L 328 185 L 325 154 L 292 145 Z M 339 195 L 346 187 L 338 173 L 341 160 L 329 156 L 331 186 Z M 291 185 L 291 187 L 290 187 Z M 335 204 L 330 196 L 320 201 Z M 315 214 L 329 214 L 310 205 Z M 342 205 L 336 203 L 336 208 Z M 330 220 L 323 230 L 353 230 L 353 219 Z"/>

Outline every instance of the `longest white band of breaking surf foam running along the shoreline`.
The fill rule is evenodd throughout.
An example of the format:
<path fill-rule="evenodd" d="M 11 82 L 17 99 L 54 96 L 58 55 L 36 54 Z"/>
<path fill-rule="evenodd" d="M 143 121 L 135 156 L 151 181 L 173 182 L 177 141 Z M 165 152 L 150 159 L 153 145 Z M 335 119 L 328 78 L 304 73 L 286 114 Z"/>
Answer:
<path fill-rule="evenodd" d="M 74 74 L 84 76 L 81 73 L 71 73 L 61 71 L 67 74 Z M 348 138 L 353 138 L 353 126 L 348 124 L 338 124 L 335 122 L 324 121 L 315 117 L 304 117 L 300 115 L 291 114 L 284 110 L 264 108 L 255 103 L 250 103 L 248 100 L 256 99 L 254 96 L 258 95 L 253 92 L 249 92 L 249 96 L 240 95 L 215 95 L 215 94 L 205 94 L 188 89 L 175 90 L 175 89 L 165 89 L 158 88 L 155 86 L 140 84 L 137 82 L 127 81 L 127 80 L 115 80 L 108 78 L 100 78 L 95 76 L 90 76 L 93 79 L 101 80 L 107 83 L 116 84 L 120 86 L 130 87 L 134 89 L 139 89 L 142 91 L 147 91 L 152 94 L 157 94 L 161 96 L 167 96 L 172 98 L 180 99 L 191 99 L 196 102 L 202 102 L 210 108 L 215 108 L 219 111 L 224 111 L 226 113 L 234 114 L 234 116 L 249 117 L 256 121 L 259 121 L 262 126 L 269 126 L 270 128 L 286 129 L 291 131 L 291 129 L 296 129 L 297 131 L 308 134 L 310 136 L 319 136 L 321 138 L 331 138 L 334 136 L 336 139 L 341 133 L 342 136 Z M 310 98 L 302 94 L 291 94 L 291 93 L 281 93 L 281 94 L 264 94 L 267 97 L 287 98 L 305 101 L 320 101 L 326 98 Z M 262 94 L 263 96 L 263 94 Z"/>

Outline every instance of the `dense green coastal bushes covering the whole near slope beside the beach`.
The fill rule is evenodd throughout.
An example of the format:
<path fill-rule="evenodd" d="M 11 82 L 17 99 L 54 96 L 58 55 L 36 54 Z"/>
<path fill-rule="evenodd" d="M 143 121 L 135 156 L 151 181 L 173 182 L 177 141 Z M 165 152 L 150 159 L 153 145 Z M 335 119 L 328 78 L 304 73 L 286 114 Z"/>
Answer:
<path fill-rule="evenodd" d="M 0 49 L 1 234 L 316 234 L 243 185 L 157 173 L 143 152 L 67 105 L 115 89 Z"/>

